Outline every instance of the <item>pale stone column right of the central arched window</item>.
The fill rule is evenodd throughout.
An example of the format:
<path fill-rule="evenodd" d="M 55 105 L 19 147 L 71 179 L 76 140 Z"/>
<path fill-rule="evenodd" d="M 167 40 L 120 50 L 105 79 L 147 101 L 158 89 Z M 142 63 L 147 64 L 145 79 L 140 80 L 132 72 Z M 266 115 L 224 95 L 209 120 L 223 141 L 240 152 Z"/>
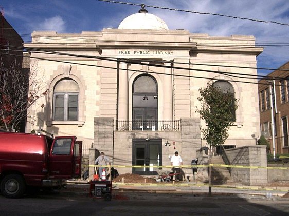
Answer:
<path fill-rule="evenodd" d="M 164 66 L 169 66 L 165 68 L 164 75 L 164 120 L 173 119 L 173 86 L 172 86 L 172 62 L 166 61 Z"/>

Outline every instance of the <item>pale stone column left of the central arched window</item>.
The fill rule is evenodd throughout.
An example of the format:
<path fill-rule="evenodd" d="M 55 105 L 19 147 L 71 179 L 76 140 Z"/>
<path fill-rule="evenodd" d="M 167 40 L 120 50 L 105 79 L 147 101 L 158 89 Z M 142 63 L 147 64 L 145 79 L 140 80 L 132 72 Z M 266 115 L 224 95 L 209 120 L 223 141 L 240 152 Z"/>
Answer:
<path fill-rule="evenodd" d="M 119 85 L 118 85 L 118 119 L 128 120 L 129 117 L 129 80 L 128 63 L 119 63 Z"/>

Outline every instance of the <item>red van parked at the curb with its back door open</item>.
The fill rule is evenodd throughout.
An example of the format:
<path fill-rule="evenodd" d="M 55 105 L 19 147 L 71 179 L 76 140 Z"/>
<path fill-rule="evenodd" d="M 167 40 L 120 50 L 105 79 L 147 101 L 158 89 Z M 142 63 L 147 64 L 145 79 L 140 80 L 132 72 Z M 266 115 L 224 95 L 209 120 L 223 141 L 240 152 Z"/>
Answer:
<path fill-rule="evenodd" d="M 0 189 L 7 198 L 29 190 L 60 187 L 80 178 L 81 143 L 76 136 L 0 132 Z"/>

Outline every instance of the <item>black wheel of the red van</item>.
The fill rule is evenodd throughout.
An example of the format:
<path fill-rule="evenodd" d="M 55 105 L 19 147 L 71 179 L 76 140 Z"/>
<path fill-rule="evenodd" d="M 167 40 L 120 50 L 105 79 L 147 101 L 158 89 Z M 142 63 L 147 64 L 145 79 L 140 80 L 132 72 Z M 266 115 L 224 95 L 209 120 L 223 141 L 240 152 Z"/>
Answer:
<path fill-rule="evenodd" d="M 21 175 L 6 175 L 1 182 L 1 192 L 6 198 L 20 198 L 25 191 L 25 182 Z"/>

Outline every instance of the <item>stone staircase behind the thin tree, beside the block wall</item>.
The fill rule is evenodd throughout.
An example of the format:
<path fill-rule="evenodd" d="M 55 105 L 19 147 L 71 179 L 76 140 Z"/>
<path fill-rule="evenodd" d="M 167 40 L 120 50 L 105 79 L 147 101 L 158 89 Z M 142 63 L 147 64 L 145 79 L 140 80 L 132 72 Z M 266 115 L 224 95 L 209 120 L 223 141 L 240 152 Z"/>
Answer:
<path fill-rule="evenodd" d="M 212 164 L 225 164 L 222 156 L 213 156 Z M 231 174 L 227 167 L 212 167 L 212 184 L 221 185 L 232 183 Z"/>

